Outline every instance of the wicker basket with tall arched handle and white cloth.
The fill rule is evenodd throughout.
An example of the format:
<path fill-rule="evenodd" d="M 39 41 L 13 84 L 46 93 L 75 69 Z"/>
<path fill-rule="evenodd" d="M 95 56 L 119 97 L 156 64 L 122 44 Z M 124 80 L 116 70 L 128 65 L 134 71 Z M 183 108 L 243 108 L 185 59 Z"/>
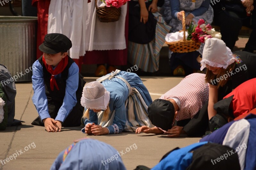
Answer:
<path fill-rule="evenodd" d="M 185 29 L 185 27 L 186 27 L 185 12 L 182 12 L 183 40 L 175 41 L 175 42 L 171 42 L 171 43 L 165 42 L 169 46 L 169 49 L 172 52 L 184 53 L 184 52 L 196 51 L 197 49 L 199 49 L 199 47 L 201 45 L 200 42 L 196 43 L 193 40 L 186 40 L 186 29 Z"/>

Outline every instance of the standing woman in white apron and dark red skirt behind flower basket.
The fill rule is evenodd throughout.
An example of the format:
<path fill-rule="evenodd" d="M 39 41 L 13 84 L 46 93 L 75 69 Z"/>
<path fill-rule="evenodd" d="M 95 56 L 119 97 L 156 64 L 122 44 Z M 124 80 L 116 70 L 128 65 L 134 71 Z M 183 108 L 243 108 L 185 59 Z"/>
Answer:
<path fill-rule="evenodd" d="M 97 0 L 97 6 L 101 4 L 102 2 Z M 86 54 L 83 61 L 84 64 L 97 64 L 96 76 L 106 75 L 115 71 L 115 66 L 127 64 L 127 4 L 121 6 L 121 16 L 118 21 L 106 23 L 100 22 L 96 15 L 95 0 L 88 3 Z"/>

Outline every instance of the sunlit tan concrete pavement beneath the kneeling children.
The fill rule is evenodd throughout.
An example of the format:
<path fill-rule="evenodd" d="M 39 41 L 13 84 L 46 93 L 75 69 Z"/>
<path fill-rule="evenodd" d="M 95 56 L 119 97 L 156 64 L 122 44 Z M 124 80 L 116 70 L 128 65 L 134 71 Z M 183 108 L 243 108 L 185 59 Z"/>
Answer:
<path fill-rule="evenodd" d="M 85 77 L 84 79 L 87 82 L 96 80 L 95 77 Z M 154 100 L 177 85 L 182 77 L 141 77 L 141 79 Z M 153 167 L 166 152 L 175 147 L 196 143 L 200 139 L 186 136 L 169 138 L 165 135 L 127 132 L 92 136 L 80 132 L 82 127 L 63 128 L 61 132 L 49 133 L 44 130 L 44 127 L 31 125 L 31 122 L 38 116 L 31 100 L 33 96 L 32 83 L 17 83 L 16 88 L 15 119 L 23 120 L 25 123 L 0 131 L 0 146 L 2 147 L 0 160 L 5 159 L 5 162 L 0 162 L 0 170 L 49 169 L 61 151 L 66 149 L 74 140 L 85 136 L 108 143 L 119 152 L 126 152 L 122 155 L 122 159 L 128 170 L 134 169 L 137 165 Z M 126 150 L 126 148 L 130 149 Z M 13 156 L 16 158 L 14 159 Z M 6 160 L 6 158 L 12 160 Z"/>

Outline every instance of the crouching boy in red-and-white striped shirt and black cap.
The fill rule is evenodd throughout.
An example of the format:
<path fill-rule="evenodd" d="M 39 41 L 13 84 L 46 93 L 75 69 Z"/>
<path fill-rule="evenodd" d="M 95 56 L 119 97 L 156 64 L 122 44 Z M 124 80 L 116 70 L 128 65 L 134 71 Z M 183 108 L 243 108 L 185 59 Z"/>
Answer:
<path fill-rule="evenodd" d="M 168 134 L 169 137 L 203 135 L 208 127 L 209 97 L 209 84 L 204 79 L 205 74 L 190 74 L 156 99 L 148 107 L 148 117 L 156 127 L 142 126 L 136 133 Z M 175 120 L 177 126 L 172 126 Z"/>

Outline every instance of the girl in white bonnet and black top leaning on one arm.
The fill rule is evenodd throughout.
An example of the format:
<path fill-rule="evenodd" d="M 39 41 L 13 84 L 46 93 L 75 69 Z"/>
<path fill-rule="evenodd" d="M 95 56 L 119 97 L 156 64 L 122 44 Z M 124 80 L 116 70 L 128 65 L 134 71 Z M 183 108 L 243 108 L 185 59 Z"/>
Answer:
<path fill-rule="evenodd" d="M 205 81 L 209 83 L 209 120 L 217 114 L 213 105 L 243 82 L 255 78 L 256 55 L 246 51 L 234 54 L 217 38 L 205 41 L 201 71 L 206 67 Z"/>

